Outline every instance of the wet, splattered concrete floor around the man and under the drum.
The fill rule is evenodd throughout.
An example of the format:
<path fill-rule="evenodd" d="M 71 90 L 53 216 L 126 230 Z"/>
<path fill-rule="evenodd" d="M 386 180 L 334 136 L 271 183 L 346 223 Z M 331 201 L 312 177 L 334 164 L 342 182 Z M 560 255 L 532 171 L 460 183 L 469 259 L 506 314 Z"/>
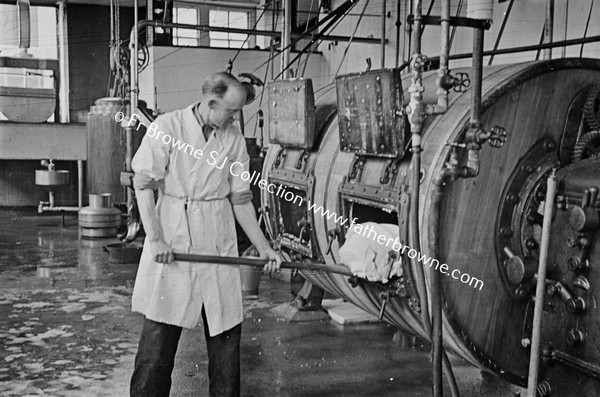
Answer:
<path fill-rule="evenodd" d="M 130 310 L 136 264 L 111 264 L 77 219 L 0 209 L 0 395 L 126 396 L 142 317 Z M 243 396 L 429 396 L 429 346 L 384 323 L 288 322 L 273 307 L 289 283 L 264 275 L 246 297 Z M 462 396 L 521 391 L 452 358 Z M 202 328 L 185 330 L 172 396 L 206 396 Z M 450 395 L 446 390 L 446 395 Z"/>

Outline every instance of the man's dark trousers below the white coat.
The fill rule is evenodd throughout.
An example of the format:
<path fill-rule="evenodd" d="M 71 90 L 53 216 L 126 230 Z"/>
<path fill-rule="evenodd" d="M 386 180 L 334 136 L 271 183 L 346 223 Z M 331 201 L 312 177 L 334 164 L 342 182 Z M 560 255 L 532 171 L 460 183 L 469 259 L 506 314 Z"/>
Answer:
<path fill-rule="evenodd" d="M 210 397 L 240 395 L 240 337 L 238 324 L 213 337 L 209 336 L 206 314 L 202 309 L 204 336 L 208 351 Z M 168 397 L 181 327 L 144 319 L 135 368 L 131 377 L 131 397 Z"/>

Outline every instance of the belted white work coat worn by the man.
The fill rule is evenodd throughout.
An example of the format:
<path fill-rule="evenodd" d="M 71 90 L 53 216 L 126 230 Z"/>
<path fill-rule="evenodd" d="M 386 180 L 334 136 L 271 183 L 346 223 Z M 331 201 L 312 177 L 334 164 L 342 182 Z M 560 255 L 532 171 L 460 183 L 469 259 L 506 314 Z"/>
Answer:
<path fill-rule="evenodd" d="M 158 128 L 147 131 L 133 158 L 134 184 L 136 188 L 160 185 L 158 222 L 175 252 L 238 256 L 228 196 L 250 190 L 247 182 L 233 175 L 248 170 L 245 139 L 236 123 L 227 130 L 214 130 L 207 142 L 192 110 L 195 105 L 156 119 Z M 181 150 L 178 141 L 187 150 Z M 234 162 L 238 163 L 232 167 Z M 239 267 L 157 263 L 146 239 L 132 309 L 153 321 L 192 328 L 200 324 L 203 305 L 211 336 L 242 322 Z"/>

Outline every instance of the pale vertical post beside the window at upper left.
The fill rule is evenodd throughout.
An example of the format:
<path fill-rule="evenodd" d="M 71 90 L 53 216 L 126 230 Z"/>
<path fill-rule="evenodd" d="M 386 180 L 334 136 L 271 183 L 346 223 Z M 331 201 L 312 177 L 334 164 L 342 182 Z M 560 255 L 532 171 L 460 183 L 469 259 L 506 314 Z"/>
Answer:
<path fill-rule="evenodd" d="M 59 117 L 61 123 L 68 123 L 69 115 L 69 47 L 67 32 L 67 2 L 58 2 L 58 68 L 60 87 L 58 90 Z"/>

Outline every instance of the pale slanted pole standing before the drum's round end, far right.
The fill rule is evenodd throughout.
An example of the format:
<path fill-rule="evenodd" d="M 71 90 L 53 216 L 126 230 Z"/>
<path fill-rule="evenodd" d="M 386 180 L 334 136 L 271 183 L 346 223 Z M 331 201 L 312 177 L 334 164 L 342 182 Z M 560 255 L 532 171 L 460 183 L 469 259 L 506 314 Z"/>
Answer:
<path fill-rule="evenodd" d="M 542 311 L 546 286 L 546 267 L 548 260 L 548 247 L 550 245 L 550 224 L 554 210 L 554 196 L 556 194 L 556 172 L 553 170 L 548 177 L 546 199 L 544 204 L 544 220 L 542 222 L 542 241 L 540 243 L 540 260 L 535 287 L 535 307 L 533 311 L 533 330 L 531 336 L 531 355 L 529 356 L 529 379 L 527 382 L 527 397 L 536 397 L 538 381 L 538 364 L 540 359 L 540 339 L 542 332 Z"/>

